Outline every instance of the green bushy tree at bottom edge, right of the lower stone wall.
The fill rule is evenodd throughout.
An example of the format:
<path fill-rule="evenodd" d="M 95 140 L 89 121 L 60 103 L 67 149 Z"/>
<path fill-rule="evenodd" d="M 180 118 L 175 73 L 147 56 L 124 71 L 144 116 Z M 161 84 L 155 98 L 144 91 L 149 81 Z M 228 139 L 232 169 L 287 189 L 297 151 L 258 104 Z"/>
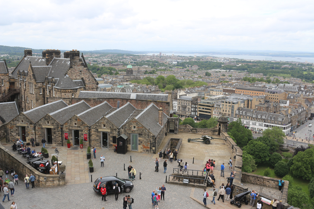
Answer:
<path fill-rule="evenodd" d="M 288 189 L 288 204 L 294 207 L 305 208 L 309 202 L 309 196 L 302 191 L 302 187 L 295 185 Z"/>

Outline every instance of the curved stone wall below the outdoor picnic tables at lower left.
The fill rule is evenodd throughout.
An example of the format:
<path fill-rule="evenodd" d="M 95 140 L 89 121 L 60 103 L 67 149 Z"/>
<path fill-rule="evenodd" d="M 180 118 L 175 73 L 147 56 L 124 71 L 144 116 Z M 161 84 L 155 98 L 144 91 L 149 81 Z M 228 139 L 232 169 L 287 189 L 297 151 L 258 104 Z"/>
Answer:
<path fill-rule="evenodd" d="M 20 161 L 19 159 L 15 158 L 15 154 L 18 153 L 14 153 L 11 150 L 6 151 L 6 149 L 0 145 L 0 159 L 5 159 L 1 161 L 2 166 L 7 168 L 13 167 L 14 171 L 19 175 L 19 179 L 21 181 L 24 180 L 25 175 L 30 176 L 30 174 L 33 174 L 36 178 L 35 185 L 38 187 L 65 185 L 65 173 L 59 175 L 42 174 L 28 165 L 25 161 Z"/>

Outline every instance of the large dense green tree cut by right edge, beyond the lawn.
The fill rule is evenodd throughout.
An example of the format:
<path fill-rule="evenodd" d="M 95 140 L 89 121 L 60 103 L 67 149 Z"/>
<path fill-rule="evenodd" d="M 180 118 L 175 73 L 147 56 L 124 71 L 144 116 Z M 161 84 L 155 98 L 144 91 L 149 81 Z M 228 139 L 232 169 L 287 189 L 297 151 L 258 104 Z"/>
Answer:
<path fill-rule="evenodd" d="M 311 180 L 314 177 L 313 156 L 314 148 L 306 149 L 304 152 L 298 152 L 298 154 L 292 158 L 293 164 L 290 167 L 291 173 L 305 180 Z"/>

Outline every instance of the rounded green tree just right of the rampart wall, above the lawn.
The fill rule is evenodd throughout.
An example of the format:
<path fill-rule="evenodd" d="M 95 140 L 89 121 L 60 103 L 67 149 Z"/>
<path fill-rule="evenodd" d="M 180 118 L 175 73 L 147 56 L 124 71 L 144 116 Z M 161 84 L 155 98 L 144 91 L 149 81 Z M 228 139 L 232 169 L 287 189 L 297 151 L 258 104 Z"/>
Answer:
<path fill-rule="evenodd" d="M 269 160 L 268 147 L 262 142 L 250 141 L 243 148 L 248 154 L 252 155 L 256 163 L 262 163 Z"/>

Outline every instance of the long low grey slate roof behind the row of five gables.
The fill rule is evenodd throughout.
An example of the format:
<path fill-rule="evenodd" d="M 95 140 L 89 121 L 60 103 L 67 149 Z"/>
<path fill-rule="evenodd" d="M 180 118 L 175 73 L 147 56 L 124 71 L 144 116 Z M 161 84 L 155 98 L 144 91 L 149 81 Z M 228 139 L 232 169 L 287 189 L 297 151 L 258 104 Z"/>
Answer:
<path fill-rule="evenodd" d="M 150 101 L 168 101 L 168 94 L 122 93 L 106 91 L 80 91 L 78 98 L 121 98 Z"/>

